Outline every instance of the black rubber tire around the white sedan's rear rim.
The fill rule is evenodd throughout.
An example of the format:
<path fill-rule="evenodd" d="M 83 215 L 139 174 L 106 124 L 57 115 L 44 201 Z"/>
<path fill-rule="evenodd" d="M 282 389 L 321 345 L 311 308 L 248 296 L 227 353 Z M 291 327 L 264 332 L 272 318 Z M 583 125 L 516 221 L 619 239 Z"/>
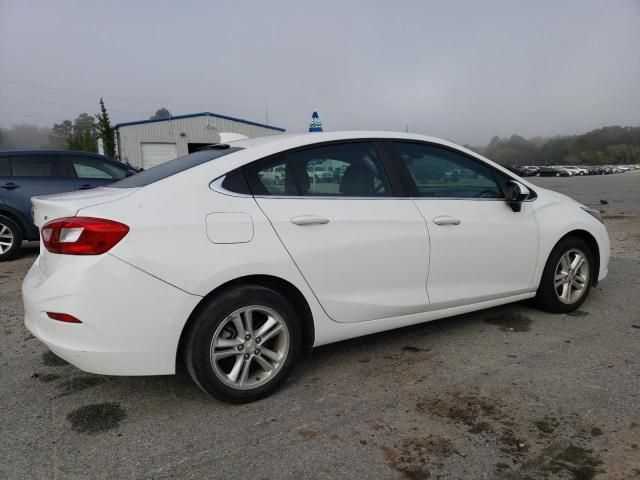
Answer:
<path fill-rule="evenodd" d="M 289 346 L 284 363 L 266 383 L 255 388 L 233 388 L 218 378 L 211 361 L 211 345 L 218 327 L 229 315 L 248 306 L 275 311 L 288 329 Z M 248 403 L 276 391 L 287 379 L 300 356 L 302 331 L 299 318 L 289 301 L 260 285 L 243 285 L 221 292 L 202 305 L 186 337 L 183 360 L 193 381 L 205 393 L 228 403 Z"/>

